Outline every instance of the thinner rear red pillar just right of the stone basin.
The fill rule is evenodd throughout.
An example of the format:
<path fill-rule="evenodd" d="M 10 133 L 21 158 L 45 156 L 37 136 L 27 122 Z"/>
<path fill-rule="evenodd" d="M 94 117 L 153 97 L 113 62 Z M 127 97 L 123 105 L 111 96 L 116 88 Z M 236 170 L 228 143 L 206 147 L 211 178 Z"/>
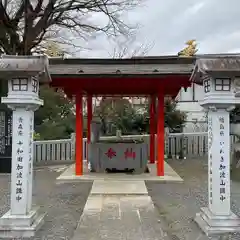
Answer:
<path fill-rule="evenodd" d="M 150 99 L 150 163 L 155 163 L 155 114 L 156 97 Z"/>

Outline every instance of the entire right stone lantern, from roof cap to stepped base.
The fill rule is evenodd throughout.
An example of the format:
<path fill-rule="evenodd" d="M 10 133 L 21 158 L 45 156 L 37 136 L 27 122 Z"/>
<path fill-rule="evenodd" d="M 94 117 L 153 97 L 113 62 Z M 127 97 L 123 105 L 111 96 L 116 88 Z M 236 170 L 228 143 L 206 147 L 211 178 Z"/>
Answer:
<path fill-rule="evenodd" d="M 229 112 L 240 104 L 236 87 L 240 57 L 203 56 L 196 60 L 191 80 L 203 85 L 200 105 L 208 113 L 208 207 L 195 221 L 208 235 L 240 231 L 240 219 L 231 212 Z"/>

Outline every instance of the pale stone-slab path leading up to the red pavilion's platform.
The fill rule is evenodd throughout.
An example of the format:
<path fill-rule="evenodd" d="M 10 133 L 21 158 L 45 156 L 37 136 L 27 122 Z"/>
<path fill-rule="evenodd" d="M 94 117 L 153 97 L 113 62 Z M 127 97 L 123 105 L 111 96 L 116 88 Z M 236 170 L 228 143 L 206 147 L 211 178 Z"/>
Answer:
<path fill-rule="evenodd" d="M 144 181 L 95 180 L 72 240 L 169 240 Z"/>

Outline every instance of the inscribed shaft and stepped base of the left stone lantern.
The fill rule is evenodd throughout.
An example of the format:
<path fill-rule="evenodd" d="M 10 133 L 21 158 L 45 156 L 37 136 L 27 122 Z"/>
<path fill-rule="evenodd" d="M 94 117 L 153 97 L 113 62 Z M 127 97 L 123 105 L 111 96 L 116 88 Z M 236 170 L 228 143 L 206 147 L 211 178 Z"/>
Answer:
<path fill-rule="evenodd" d="M 13 111 L 11 207 L 0 219 L 1 237 L 31 237 L 43 224 L 44 214 L 32 207 L 34 111 L 40 104 L 8 104 Z"/>

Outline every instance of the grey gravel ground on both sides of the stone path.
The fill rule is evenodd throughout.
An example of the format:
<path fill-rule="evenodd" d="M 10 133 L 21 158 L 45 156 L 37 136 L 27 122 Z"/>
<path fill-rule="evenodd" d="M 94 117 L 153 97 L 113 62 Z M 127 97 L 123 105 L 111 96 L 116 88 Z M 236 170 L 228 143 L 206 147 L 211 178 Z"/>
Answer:
<path fill-rule="evenodd" d="M 147 182 L 171 240 L 207 240 L 193 221 L 200 207 L 207 206 L 207 165 L 203 160 L 169 160 L 184 183 Z M 45 224 L 30 240 L 70 240 L 83 211 L 91 183 L 56 185 L 60 172 L 42 168 L 35 172 L 33 202 L 47 212 Z M 10 177 L 0 174 L 0 215 L 9 209 Z M 240 216 L 240 182 L 232 182 L 232 210 Z M 239 240 L 240 234 L 224 236 Z"/>

